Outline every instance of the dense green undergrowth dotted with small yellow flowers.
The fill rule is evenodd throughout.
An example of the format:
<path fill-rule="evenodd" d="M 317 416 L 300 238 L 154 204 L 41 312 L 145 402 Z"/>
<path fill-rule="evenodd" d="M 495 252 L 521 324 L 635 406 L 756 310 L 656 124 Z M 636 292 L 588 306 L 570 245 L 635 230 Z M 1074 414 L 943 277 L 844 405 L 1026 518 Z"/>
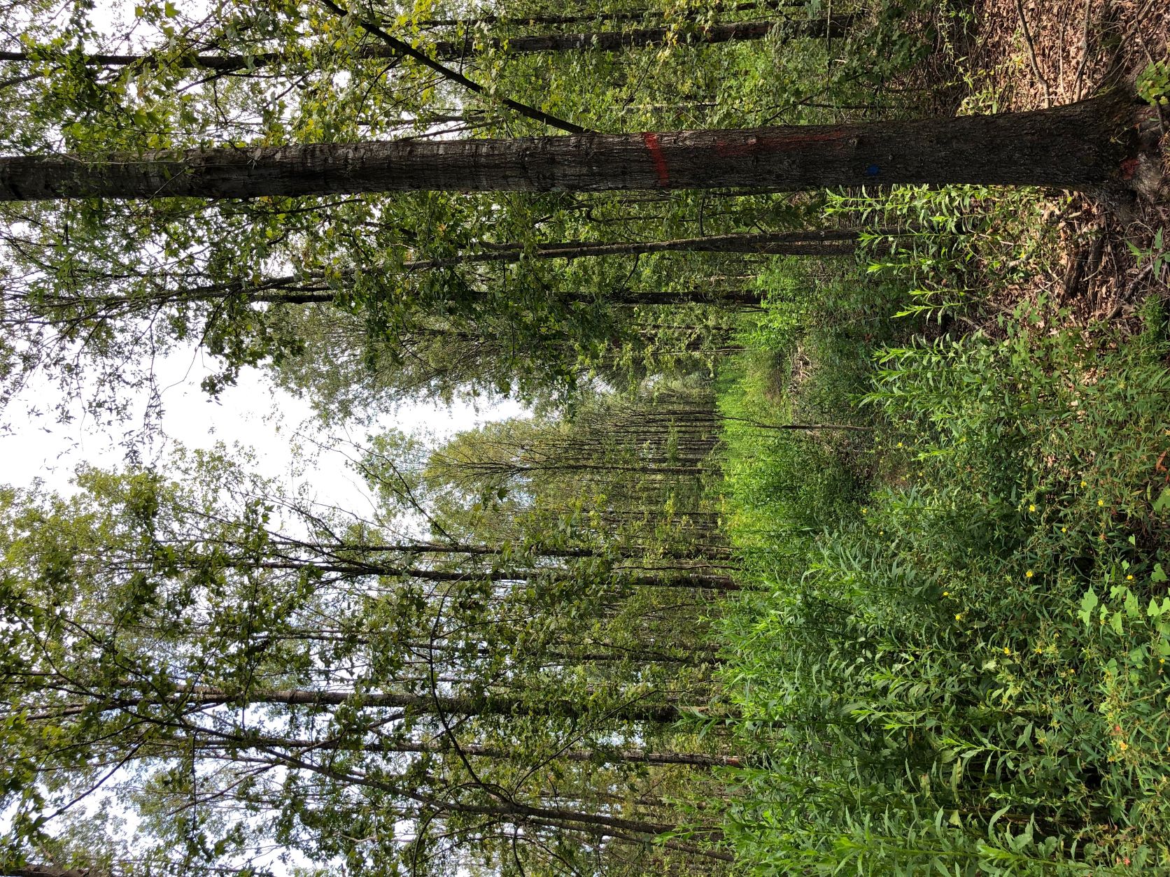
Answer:
<path fill-rule="evenodd" d="M 739 868 L 1170 869 L 1165 312 L 900 339 L 851 274 L 778 262 L 721 377 Z"/>

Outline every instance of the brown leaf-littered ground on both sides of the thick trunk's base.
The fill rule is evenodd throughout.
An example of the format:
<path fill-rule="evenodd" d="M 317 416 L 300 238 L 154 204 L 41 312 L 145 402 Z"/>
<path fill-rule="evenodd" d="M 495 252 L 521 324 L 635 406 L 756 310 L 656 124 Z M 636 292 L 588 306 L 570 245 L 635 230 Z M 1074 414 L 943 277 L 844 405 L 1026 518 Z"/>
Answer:
<path fill-rule="evenodd" d="M 1170 50 L 1170 0 L 975 0 L 975 32 L 964 41 L 965 67 L 998 92 L 999 110 L 1072 103 L 1131 83 Z M 1170 180 L 1170 108 L 1161 108 L 1163 166 Z M 1166 189 L 1163 189 L 1165 192 Z M 1107 205 L 1076 196 L 1055 213 L 1062 270 L 1037 277 L 1017 298 L 1047 292 L 1074 322 L 1133 324 L 1149 296 L 1170 298 L 1165 271 L 1134 256 L 1127 241 L 1148 249 L 1159 228 L 1170 246 L 1170 201 Z M 1030 284 L 1031 285 L 1031 284 Z"/>

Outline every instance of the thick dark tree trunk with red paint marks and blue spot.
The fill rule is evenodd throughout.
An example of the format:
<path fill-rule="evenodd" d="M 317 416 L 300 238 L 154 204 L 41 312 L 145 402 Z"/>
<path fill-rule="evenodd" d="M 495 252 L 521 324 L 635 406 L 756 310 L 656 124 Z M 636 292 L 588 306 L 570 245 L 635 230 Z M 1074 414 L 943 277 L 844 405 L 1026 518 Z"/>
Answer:
<path fill-rule="evenodd" d="M 1107 96 L 856 125 L 23 156 L 0 159 L 0 200 L 948 182 L 1086 189 L 1133 174 L 1138 118 L 1128 97 Z"/>

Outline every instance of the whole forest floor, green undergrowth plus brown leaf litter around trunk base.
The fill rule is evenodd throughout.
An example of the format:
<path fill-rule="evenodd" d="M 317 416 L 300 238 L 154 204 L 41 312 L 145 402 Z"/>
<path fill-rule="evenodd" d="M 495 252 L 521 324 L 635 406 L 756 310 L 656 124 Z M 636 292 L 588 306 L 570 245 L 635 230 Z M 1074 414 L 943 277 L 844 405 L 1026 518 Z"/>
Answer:
<path fill-rule="evenodd" d="M 966 15 L 911 83 L 958 82 L 943 111 L 1090 96 L 1170 35 L 1158 2 Z M 1170 205 L 1123 208 L 831 195 L 830 221 L 925 230 L 760 275 L 718 387 L 748 872 L 1170 870 Z"/>

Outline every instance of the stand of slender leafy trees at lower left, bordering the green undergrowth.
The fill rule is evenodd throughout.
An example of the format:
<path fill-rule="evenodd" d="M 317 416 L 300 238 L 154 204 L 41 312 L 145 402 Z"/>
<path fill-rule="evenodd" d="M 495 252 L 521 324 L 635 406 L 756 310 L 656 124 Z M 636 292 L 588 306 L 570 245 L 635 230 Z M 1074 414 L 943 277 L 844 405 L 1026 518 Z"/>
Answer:
<path fill-rule="evenodd" d="M 736 587 L 718 426 L 662 387 L 384 435 L 365 518 L 223 454 L 8 490 L 15 837 L 115 870 L 259 871 L 266 842 L 355 872 L 717 870 L 717 809 L 679 802 L 736 761 L 704 621 Z M 138 837 L 78 861 L 126 809 Z"/>

